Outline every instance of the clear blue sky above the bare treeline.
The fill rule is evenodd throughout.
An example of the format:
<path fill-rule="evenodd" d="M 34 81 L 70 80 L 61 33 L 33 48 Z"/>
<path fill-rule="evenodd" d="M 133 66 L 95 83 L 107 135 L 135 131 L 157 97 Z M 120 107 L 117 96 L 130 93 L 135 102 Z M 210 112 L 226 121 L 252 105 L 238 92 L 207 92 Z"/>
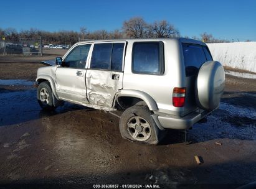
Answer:
<path fill-rule="evenodd" d="M 0 27 L 17 30 L 121 29 L 123 21 L 140 16 L 146 22 L 166 19 L 181 35 L 207 32 L 217 39 L 256 40 L 256 1 L 4 1 Z"/>

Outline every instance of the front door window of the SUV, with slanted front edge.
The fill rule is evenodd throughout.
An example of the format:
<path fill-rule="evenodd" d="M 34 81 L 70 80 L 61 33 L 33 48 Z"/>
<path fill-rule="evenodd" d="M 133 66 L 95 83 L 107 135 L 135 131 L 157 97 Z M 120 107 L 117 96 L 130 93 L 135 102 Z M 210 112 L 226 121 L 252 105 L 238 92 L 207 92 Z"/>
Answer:
<path fill-rule="evenodd" d="M 85 68 L 86 60 L 91 45 L 78 45 L 73 48 L 72 52 L 67 55 L 64 60 L 64 67 L 69 68 Z"/>

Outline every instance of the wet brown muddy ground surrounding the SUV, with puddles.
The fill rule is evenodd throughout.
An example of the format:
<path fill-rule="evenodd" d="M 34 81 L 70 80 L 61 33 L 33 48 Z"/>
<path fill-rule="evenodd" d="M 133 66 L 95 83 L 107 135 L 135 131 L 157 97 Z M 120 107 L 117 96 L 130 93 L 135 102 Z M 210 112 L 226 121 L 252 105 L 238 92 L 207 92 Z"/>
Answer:
<path fill-rule="evenodd" d="M 256 181 L 255 80 L 226 76 L 220 108 L 188 131 L 189 142 L 170 130 L 161 145 L 140 145 L 121 138 L 109 113 L 69 103 L 40 110 L 32 80 L 44 66 L 39 60 L 54 57 L 0 57 L 1 187 L 237 188 Z"/>

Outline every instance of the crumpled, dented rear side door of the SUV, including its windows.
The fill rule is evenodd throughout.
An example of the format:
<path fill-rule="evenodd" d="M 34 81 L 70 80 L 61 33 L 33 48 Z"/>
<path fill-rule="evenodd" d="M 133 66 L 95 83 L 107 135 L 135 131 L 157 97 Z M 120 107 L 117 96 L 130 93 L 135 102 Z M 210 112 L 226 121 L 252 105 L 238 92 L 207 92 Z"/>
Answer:
<path fill-rule="evenodd" d="M 125 41 L 93 44 L 86 73 L 87 98 L 90 104 L 111 108 L 116 92 L 123 88 Z"/>

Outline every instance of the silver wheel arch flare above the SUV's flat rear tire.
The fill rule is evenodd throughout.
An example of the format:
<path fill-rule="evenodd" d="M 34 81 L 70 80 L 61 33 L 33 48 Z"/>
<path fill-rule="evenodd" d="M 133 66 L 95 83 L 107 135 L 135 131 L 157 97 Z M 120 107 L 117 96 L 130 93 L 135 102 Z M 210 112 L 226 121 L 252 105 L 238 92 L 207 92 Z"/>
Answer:
<path fill-rule="evenodd" d="M 137 90 L 121 90 L 116 94 L 116 99 L 118 101 L 118 98 L 121 96 L 130 96 L 130 97 L 136 97 L 143 99 L 145 103 L 148 105 L 148 108 L 151 111 L 157 111 L 158 110 L 158 105 L 156 104 L 156 101 L 147 93 L 143 91 L 137 91 Z"/>

